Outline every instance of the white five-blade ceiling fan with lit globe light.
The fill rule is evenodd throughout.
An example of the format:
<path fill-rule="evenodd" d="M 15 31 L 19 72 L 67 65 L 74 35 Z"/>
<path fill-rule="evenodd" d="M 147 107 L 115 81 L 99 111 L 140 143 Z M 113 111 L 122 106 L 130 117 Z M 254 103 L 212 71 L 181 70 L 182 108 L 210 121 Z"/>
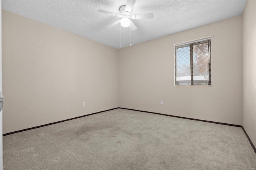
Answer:
<path fill-rule="evenodd" d="M 123 27 L 130 26 L 131 30 L 135 31 L 135 30 L 137 30 L 137 27 L 130 20 L 130 18 L 136 20 L 136 19 L 151 19 L 154 17 L 153 13 L 132 15 L 131 12 L 132 12 L 132 8 L 133 8 L 135 2 L 136 2 L 136 0 L 127 0 L 126 5 L 123 5 L 120 7 L 120 9 L 119 9 L 120 14 L 108 12 L 105 10 L 98 10 L 98 12 L 122 18 L 121 20 L 118 20 L 118 21 L 114 22 L 113 24 L 111 24 L 110 26 L 108 26 L 108 28 L 112 28 L 112 27 L 116 26 L 117 24 L 121 23 L 121 26 L 123 26 Z"/>

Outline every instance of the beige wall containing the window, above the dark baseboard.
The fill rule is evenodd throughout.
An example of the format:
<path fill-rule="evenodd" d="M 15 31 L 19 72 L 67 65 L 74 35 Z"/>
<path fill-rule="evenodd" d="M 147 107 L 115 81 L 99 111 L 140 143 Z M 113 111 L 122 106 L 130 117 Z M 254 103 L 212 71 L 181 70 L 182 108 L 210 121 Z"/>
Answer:
<path fill-rule="evenodd" d="M 207 36 L 214 36 L 212 87 L 174 87 L 172 44 Z M 119 107 L 242 125 L 242 16 L 126 47 L 118 56 Z"/>

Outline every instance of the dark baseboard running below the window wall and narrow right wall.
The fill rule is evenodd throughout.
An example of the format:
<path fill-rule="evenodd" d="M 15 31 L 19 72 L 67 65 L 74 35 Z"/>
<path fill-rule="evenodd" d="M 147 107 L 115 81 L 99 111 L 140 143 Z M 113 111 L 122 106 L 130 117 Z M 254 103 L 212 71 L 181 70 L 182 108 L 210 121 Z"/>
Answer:
<path fill-rule="evenodd" d="M 135 109 L 127 109 L 127 108 L 122 108 L 122 107 L 119 107 L 119 109 L 126 109 L 126 110 L 138 111 L 138 112 L 145 112 L 145 113 L 153 113 L 153 114 L 157 114 L 157 115 L 164 115 L 164 116 L 170 116 L 170 117 L 177 117 L 177 118 L 189 119 L 189 120 L 193 120 L 193 121 L 202 121 L 202 122 L 208 122 L 208 123 L 215 123 L 215 124 L 220 124 L 220 125 L 228 125 L 228 126 L 232 126 L 232 127 L 241 127 L 241 128 L 244 130 L 244 127 L 242 127 L 241 125 L 233 125 L 233 124 L 220 123 L 220 122 L 213 122 L 213 121 L 204 121 L 204 120 L 200 120 L 200 119 L 192 119 L 192 118 L 187 118 L 187 117 L 166 115 L 166 114 L 162 114 L 162 113 L 154 113 L 154 112 L 140 111 L 140 110 L 135 110 Z M 256 148 L 255 148 L 254 144 L 252 143 L 252 140 L 250 139 L 250 137 L 248 136 L 248 134 L 246 133 L 245 130 L 244 130 L 244 133 L 246 134 L 248 140 L 250 141 L 250 143 L 251 143 L 251 145 L 252 145 L 252 148 L 254 149 L 254 151 L 255 151 L 255 153 L 256 153 Z"/>

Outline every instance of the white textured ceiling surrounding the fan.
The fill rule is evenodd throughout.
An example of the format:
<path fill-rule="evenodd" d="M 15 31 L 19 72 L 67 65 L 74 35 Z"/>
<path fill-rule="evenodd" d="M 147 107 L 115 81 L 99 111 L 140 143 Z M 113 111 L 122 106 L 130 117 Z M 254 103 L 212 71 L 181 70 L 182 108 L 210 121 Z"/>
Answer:
<path fill-rule="evenodd" d="M 120 26 L 107 27 L 118 17 L 126 0 L 2 0 L 2 8 L 100 42 L 120 48 Z M 132 44 L 196 28 L 241 15 L 246 0 L 136 0 L 132 14 L 154 13 L 153 19 L 132 20 Z M 121 28 L 121 45 L 130 45 L 130 28 Z"/>

